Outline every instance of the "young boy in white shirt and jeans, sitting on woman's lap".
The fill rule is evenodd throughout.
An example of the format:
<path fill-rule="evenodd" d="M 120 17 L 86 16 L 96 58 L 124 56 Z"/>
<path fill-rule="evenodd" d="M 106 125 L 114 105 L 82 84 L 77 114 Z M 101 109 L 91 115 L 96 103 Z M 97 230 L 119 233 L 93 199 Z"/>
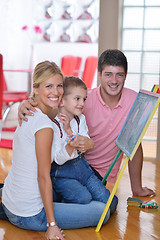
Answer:
<path fill-rule="evenodd" d="M 51 178 L 56 192 L 64 202 L 86 204 L 91 200 L 106 203 L 110 192 L 95 176 L 83 155 L 81 136 L 85 136 L 94 147 L 88 136 L 88 127 L 84 110 L 87 98 L 87 87 L 77 77 L 66 77 L 64 95 L 59 107 L 59 114 L 54 123 L 54 162 Z M 114 196 L 110 210 L 116 210 L 118 199 Z"/>

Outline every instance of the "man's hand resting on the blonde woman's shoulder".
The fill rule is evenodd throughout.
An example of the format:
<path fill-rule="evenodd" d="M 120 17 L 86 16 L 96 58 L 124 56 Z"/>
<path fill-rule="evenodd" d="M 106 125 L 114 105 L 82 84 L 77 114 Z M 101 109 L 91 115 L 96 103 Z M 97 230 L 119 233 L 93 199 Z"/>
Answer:
<path fill-rule="evenodd" d="M 36 112 L 36 109 L 34 107 L 37 106 L 37 102 L 35 102 L 32 99 L 24 100 L 22 103 L 19 104 L 18 107 L 18 122 L 21 126 L 22 120 L 28 121 L 28 119 L 25 117 L 25 115 L 33 116 L 34 114 L 31 112 Z"/>

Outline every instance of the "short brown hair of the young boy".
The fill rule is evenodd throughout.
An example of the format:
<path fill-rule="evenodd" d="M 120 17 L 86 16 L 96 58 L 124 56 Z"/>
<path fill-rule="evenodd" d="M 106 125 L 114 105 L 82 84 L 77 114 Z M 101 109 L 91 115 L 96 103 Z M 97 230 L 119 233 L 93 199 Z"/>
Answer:
<path fill-rule="evenodd" d="M 74 76 L 65 77 L 63 82 L 63 89 L 64 89 L 63 95 L 70 94 L 69 90 L 70 89 L 72 90 L 73 87 L 82 87 L 87 91 L 86 84 L 80 78 L 74 77 Z"/>

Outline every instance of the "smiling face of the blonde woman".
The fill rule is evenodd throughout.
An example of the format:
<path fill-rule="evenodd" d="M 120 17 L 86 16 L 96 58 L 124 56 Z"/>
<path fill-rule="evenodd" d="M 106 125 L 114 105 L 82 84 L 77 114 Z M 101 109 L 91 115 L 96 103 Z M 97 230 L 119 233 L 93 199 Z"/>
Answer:
<path fill-rule="evenodd" d="M 55 74 L 40 83 L 38 88 L 34 88 L 35 100 L 38 107 L 43 113 L 48 113 L 52 109 L 56 109 L 63 95 L 63 78 L 59 74 Z"/>

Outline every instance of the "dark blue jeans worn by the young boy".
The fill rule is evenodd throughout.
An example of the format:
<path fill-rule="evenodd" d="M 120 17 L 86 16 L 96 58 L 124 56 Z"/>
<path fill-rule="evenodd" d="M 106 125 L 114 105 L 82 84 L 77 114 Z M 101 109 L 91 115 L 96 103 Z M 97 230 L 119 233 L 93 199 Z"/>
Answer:
<path fill-rule="evenodd" d="M 52 185 L 66 203 L 88 204 L 93 201 L 107 203 L 110 191 L 95 176 L 84 156 L 69 160 L 63 165 L 51 166 Z M 116 210 L 118 198 L 114 196 L 110 211 Z"/>

